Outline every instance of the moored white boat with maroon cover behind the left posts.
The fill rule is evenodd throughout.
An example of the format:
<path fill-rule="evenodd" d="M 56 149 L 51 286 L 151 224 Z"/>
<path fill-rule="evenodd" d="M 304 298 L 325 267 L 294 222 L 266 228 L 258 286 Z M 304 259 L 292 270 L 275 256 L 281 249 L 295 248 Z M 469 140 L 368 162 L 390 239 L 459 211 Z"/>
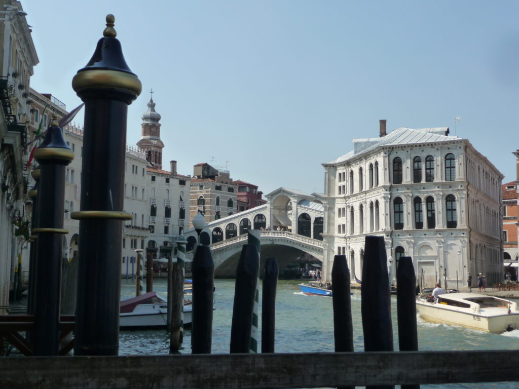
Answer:
<path fill-rule="evenodd" d="M 184 301 L 184 326 L 191 325 L 192 308 L 191 301 Z M 155 291 L 121 301 L 120 328 L 163 328 L 167 319 L 167 299 Z"/>

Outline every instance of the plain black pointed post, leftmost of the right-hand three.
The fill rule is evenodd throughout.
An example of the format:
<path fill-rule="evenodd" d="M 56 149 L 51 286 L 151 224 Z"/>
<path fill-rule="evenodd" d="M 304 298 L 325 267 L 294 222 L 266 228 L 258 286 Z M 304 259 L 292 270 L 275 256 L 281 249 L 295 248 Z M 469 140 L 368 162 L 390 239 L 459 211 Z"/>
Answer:
<path fill-rule="evenodd" d="M 353 352 L 353 320 L 351 317 L 350 271 L 345 255 L 333 258 L 333 332 L 335 352 Z M 339 386 L 354 389 L 354 386 Z"/>

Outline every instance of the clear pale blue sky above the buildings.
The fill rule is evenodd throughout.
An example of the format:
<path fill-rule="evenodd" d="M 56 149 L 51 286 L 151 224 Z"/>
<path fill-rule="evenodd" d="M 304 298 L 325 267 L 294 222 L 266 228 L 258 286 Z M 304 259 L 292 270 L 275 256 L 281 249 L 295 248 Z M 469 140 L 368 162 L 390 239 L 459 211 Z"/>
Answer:
<path fill-rule="evenodd" d="M 31 86 L 72 109 L 72 77 L 115 15 L 143 93 L 153 88 L 163 167 L 199 162 L 268 193 L 323 191 L 352 139 L 399 127 L 449 127 L 515 180 L 519 148 L 517 1 L 22 0 L 40 63 Z M 455 118 L 461 117 L 455 131 Z M 82 121 L 83 114 L 78 115 Z"/>

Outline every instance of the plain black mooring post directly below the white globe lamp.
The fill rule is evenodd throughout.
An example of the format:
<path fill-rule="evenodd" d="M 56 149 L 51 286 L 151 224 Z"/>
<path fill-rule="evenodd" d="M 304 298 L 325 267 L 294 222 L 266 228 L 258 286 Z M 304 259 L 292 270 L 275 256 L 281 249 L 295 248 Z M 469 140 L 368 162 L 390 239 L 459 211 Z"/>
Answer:
<path fill-rule="evenodd" d="M 197 247 L 191 273 L 193 275 L 191 352 L 211 354 L 214 263 L 209 246 Z"/>

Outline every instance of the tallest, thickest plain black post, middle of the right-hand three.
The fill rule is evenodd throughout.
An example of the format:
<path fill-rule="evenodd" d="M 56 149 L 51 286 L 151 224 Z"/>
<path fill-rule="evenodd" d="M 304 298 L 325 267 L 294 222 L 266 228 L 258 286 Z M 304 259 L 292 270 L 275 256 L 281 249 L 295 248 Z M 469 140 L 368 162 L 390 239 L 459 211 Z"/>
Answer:
<path fill-rule="evenodd" d="M 364 351 L 393 351 L 391 296 L 384 237 L 367 236 L 365 239 L 361 312 Z M 386 389 L 394 388 L 394 385 L 369 388 Z"/>

